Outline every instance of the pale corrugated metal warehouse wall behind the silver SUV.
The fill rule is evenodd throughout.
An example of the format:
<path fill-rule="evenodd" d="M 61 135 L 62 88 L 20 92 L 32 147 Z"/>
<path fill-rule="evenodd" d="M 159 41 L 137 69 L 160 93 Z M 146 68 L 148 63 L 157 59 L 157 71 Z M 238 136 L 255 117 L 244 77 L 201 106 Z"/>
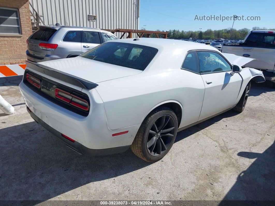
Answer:
<path fill-rule="evenodd" d="M 60 23 L 100 29 L 138 29 L 139 1 L 29 0 L 46 25 Z M 96 15 L 97 20 L 88 21 L 88 14 Z"/>

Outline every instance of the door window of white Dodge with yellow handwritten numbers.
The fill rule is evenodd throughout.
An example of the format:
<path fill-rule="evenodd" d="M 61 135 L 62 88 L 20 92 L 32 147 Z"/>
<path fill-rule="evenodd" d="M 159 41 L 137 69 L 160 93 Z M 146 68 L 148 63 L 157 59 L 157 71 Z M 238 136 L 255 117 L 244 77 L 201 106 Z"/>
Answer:
<path fill-rule="evenodd" d="M 230 71 L 230 64 L 218 53 L 198 51 L 200 73 Z"/>

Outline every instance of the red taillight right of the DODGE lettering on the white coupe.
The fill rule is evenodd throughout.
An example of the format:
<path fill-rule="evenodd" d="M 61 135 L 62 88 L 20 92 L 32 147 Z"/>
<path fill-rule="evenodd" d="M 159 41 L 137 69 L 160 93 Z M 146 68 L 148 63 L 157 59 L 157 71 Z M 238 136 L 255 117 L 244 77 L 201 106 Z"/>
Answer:
<path fill-rule="evenodd" d="M 80 97 L 77 97 L 73 94 L 70 94 L 69 92 L 66 92 L 62 89 L 56 88 L 55 96 L 56 96 L 56 98 L 58 98 L 62 101 L 65 101 L 65 102 L 69 103 L 70 105 L 73 105 L 79 109 L 83 109 L 85 111 L 89 110 L 89 103 L 86 100 L 84 100 Z"/>

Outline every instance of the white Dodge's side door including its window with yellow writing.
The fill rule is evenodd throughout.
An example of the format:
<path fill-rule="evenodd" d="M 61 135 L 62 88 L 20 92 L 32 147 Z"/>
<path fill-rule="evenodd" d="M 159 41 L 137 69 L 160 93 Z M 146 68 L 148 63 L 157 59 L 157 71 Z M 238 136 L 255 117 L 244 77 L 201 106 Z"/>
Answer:
<path fill-rule="evenodd" d="M 205 93 L 199 120 L 235 106 L 242 78 L 231 75 L 232 65 L 215 51 L 197 51 Z"/>

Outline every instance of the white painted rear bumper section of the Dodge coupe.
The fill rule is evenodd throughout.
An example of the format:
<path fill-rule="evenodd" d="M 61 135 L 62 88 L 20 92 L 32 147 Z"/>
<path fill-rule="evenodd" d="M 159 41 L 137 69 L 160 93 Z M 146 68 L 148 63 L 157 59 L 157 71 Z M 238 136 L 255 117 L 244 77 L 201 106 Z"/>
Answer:
<path fill-rule="evenodd" d="M 131 145 L 140 125 L 110 130 L 103 102 L 97 90 L 87 93 L 90 99 L 88 116 L 81 116 L 44 98 L 24 82 L 19 85 L 26 106 L 49 127 L 62 133 L 89 149 L 110 149 Z M 127 134 L 113 134 L 128 131 Z"/>

